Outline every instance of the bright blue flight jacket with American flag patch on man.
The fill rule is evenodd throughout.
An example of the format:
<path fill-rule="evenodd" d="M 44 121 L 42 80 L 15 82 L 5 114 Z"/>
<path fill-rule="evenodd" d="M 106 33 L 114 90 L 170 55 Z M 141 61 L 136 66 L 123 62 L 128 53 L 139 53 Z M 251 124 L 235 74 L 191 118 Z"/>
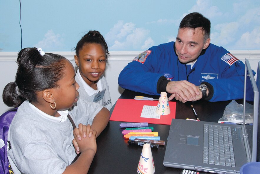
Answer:
<path fill-rule="evenodd" d="M 158 80 L 160 82 L 162 76 L 171 81 L 188 80 L 196 86 L 208 85 L 211 89 L 208 100 L 216 102 L 244 97 L 244 72 L 243 62 L 214 44 L 201 52 L 189 71 L 187 65 L 178 60 L 175 42 L 169 42 L 153 46 L 136 57 L 120 73 L 118 84 L 136 92 L 160 95 Z M 247 100 L 253 99 L 252 93 L 247 96 Z"/>

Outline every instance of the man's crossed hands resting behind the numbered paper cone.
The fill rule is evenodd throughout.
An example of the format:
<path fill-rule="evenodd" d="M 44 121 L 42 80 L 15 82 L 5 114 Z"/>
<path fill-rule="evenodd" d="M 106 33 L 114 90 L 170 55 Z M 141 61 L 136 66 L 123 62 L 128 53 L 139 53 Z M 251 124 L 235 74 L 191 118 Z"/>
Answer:
<path fill-rule="evenodd" d="M 186 80 L 169 82 L 166 86 L 166 91 L 172 94 L 169 100 L 175 97 L 176 100 L 184 103 L 194 101 L 197 99 L 197 96 L 200 95 L 198 87 Z"/>

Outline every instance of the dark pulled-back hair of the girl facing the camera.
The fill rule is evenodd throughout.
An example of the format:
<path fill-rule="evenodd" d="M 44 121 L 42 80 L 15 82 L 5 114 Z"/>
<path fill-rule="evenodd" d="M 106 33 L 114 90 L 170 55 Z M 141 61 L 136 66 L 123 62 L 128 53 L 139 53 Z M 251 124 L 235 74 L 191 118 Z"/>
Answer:
<path fill-rule="evenodd" d="M 74 50 L 76 51 L 76 55 L 79 57 L 79 52 L 82 49 L 82 47 L 85 44 L 100 44 L 105 52 L 106 52 L 106 59 L 108 57 L 110 57 L 110 54 L 108 52 L 108 47 L 107 47 L 107 43 L 104 39 L 104 37 L 102 36 L 102 34 L 100 34 L 100 32 L 95 31 L 95 30 L 90 30 L 87 34 L 85 34 L 80 41 L 77 43 L 77 47 L 74 48 Z"/>

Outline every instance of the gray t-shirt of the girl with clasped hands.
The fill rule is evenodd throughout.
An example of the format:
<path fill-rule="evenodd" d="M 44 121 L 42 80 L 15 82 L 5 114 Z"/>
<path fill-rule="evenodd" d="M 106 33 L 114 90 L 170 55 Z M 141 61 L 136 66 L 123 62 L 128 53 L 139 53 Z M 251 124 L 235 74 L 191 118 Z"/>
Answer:
<path fill-rule="evenodd" d="M 79 98 L 69 109 L 69 115 L 77 127 L 79 123 L 91 125 L 102 108 Z M 76 156 L 72 131 L 69 119 L 63 122 L 48 120 L 28 101 L 23 102 L 8 132 L 11 149 L 7 154 L 14 173 L 63 173 Z"/>

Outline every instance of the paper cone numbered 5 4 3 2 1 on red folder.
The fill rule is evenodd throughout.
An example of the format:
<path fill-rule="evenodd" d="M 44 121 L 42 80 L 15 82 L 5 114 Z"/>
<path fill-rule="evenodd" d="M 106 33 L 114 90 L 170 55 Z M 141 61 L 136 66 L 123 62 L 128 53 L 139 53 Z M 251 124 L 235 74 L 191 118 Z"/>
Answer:
<path fill-rule="evenodd" d="M 161 92 L 155 112 L 160 115 L 170 114 L 170 106 L 166 92 Z"/>

